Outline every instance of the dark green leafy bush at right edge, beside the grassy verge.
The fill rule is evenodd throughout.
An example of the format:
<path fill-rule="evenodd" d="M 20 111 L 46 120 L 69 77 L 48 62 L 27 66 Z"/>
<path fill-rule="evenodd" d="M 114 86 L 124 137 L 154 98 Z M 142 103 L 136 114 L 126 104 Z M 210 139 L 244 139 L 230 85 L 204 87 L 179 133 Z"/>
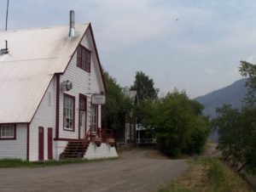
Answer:
<path fill-rule="evenodd" d="M 256 172 L 256 109 L 238 110 L 225 104 L 217 112 L 213 125 L 218 129 L 218 148 L 223 151 L 224 160 L 230 157 L 237 172 L 244 168 Z"/>

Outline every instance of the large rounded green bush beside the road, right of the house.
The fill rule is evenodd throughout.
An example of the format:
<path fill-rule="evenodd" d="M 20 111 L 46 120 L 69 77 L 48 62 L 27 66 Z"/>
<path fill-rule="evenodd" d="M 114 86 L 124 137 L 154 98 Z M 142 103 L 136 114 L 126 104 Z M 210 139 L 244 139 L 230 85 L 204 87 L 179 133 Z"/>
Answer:
<path fill-rule="evenodd" d="M 156 104 L 154 127 L 160 150 L 173 157 L 200 153 L 211 127 L 201 115 L 203 106 L 178 91 L 167 93 Z"/>

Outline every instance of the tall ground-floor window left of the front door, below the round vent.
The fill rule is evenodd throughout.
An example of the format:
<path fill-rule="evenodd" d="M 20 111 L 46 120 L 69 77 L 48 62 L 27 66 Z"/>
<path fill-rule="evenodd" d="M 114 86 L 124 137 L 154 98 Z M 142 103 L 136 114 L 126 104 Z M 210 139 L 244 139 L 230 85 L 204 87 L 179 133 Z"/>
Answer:
<path fill-rule="evenodd" d="M 74 97 L 64 95 L 64 129 L 67 131 L 74 131 Z"/>

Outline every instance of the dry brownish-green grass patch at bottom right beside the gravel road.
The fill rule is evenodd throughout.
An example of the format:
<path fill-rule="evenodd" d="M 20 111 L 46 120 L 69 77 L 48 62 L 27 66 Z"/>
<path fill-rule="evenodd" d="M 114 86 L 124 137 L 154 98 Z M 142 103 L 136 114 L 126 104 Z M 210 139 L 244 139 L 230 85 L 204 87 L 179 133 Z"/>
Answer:
<path fill-rule="evenodd" d="M 248 192 L 253 191 L 230 167 L 217 158 L 189 160 L 189 169 L 159 192 Z"/>

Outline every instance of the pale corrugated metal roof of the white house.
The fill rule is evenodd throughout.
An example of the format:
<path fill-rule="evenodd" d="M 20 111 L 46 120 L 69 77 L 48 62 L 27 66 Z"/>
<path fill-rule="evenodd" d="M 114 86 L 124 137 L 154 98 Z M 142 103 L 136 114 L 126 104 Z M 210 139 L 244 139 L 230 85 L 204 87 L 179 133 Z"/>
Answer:
<path fill-rule="evenodd" d="M 55 73 L 63 73 L 90 24 L 0 31 L 0 123 L 30 122 Z M 93 38 L 93 37 L 92 37 Z M 100 65 L 100 63 L 99 63 Z M 101 68 L 101 66 L 100 66 Z"/>

